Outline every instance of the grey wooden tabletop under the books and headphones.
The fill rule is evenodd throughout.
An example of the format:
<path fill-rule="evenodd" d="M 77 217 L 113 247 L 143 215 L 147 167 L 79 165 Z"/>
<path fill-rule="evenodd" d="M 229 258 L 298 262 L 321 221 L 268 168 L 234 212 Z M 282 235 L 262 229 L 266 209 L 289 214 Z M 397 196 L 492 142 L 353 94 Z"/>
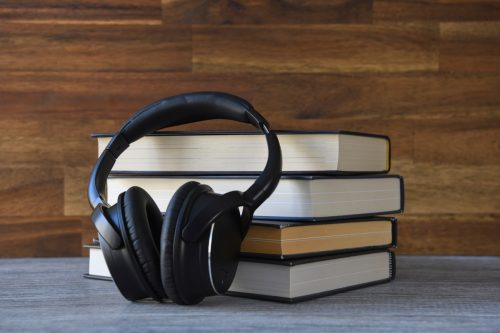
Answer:
<path fill-rule="evenodd" d="M 298 304 L 130 303 L 87 258 L 0 260 L 0 332 L 500 332 L 500 258 L 398 257 L 394 282 Z"/>

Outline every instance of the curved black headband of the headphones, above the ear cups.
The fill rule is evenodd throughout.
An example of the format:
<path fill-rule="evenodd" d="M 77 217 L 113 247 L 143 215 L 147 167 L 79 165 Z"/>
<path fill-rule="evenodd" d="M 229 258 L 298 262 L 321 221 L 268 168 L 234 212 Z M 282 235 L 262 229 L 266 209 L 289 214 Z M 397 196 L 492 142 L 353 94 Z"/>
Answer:
<path fill-rule="evenodd" d="M 281 175 L 281 149 L 269 124 L 246 100 L 221 92 L 195 92 L 152 103 L 125 122 L 111 139 L 90 175 L 88 199 L 95 209 L 109 206 L 105 200 L 106 180 L 118 156 L 129 144 L 159 129 L 210 119 L 228 119 L 249 123 L 265 135 L 268 160 L 264 171 L 242 195 L 245 206 L 253 211 L 274 191 Z"/>

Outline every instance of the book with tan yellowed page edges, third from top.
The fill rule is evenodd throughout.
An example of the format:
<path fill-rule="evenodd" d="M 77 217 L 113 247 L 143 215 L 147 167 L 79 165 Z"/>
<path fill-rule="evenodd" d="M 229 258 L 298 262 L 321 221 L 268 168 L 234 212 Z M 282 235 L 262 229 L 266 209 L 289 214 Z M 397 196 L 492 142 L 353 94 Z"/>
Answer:
<path fill-rule="evenodd" d="M 396 222 L 390 217 L 321 223 L 254 221 L 241 244 L 241 255 L 290 259 L 387 249 L 396 246 Z"/>

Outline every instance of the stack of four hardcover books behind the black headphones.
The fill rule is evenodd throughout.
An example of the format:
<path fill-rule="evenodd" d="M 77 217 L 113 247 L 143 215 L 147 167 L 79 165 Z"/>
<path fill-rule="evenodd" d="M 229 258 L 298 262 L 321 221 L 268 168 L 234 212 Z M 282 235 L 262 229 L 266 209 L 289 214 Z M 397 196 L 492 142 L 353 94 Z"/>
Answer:
<path fill-rule="evenodd" d="M 386 136 L 343 131 L 276 131 L 283 176 L 256 211 L 228 294 L 294 302 L 388 282 L 395 275 L 403 179 L 388 175 Z M 111 139 L 95 135 L 99 153 Z M 267 161 L 254 132 L 159 132 L 130 145 L 108 179 L 114 204 L 131 186 L 165 210 L 174 192 L 195 180 L 217 193 L 246 190 Z M 382 216 L 384 215 L 384 216 Z M 90 250 L 90 277 L 109 277 Z"/>

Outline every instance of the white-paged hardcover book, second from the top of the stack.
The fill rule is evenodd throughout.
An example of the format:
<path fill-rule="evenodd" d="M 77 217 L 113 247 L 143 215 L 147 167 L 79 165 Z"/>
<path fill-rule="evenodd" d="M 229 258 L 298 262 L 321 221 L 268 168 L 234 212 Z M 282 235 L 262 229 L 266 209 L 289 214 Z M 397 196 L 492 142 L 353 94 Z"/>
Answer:
<path fill-rule="evenodd" d="M 132 186 L 145 189 L 165 212 L 175 191 L 188 181 L 207 184 L 216 193 L 244 191 L 252 177 L 111 175 L 107 181 L 108 202 Z M 255 211 L 255 218 L 322 220 L 400 213 L 403 210 L 403 180 L 399 176 L 356 177 L 283 176 L 276 190 Z"/>

